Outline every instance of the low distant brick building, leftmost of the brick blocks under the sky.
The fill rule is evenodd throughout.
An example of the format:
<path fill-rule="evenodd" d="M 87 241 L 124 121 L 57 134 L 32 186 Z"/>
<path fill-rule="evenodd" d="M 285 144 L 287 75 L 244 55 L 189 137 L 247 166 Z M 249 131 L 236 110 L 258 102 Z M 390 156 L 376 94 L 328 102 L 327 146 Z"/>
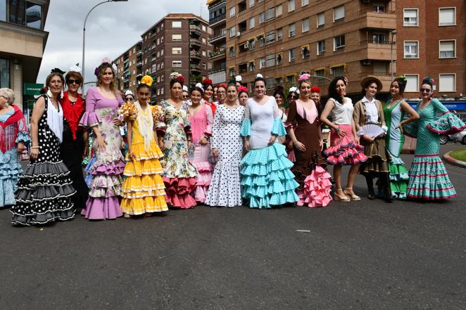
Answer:
<path fill-rule="evenodd" d="M 113 63 L 117 66 L 118 89 L 122 92 L 130 89 L 134 93 L 142 78 L 142 41 L 131 46 Z"/>

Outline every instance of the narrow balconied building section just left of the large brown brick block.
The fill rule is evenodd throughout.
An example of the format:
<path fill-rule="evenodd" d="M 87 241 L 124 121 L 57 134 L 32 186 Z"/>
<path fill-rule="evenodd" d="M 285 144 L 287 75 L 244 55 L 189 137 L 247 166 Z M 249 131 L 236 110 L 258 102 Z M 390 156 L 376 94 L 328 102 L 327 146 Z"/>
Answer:
<path fill-rule="evenodd" d="M 230 2 L 230 1 L 229 1 Z M 208 0 L 209 23 L 213 35 L 209 39 L 212 44 L 212 51 L 209 54 L 209 60 L 212 63 L 212 69 L 209 72 L 209 78 L 213 84 L 227 82 L 227 28 L 226 28 L 226 0 Z"/>

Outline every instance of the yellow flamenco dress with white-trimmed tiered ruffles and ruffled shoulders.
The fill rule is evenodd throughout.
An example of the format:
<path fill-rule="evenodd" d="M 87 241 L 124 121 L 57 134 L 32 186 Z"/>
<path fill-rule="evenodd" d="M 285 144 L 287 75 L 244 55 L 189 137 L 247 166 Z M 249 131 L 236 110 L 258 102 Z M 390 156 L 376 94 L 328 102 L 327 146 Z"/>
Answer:
<path fill-rule="evenodd" d="M 165 185 L 163 184 L 163 167 L 158 161 L 163 153 L 156 143 L 156 134 L 150 143 L 150 147 L 144 148 L 144 137 L 139 133 L 137 122 L 137 108 L 133 104 L 126 103 L 120 110 L 126 120 L 132 120 L 131 148 L 135 159 L 126 154 L 127 164 L 123 175 L 126 177 L 122 184 L 122 201 L 120 207 L 123 213 L 137 215 L 151 212 L 168 211 L 165 201 Z M 158 120 L 160 108 L 148 105 L 154 122 Z M 136 110 L 136 112 L 134 112 Z"/>

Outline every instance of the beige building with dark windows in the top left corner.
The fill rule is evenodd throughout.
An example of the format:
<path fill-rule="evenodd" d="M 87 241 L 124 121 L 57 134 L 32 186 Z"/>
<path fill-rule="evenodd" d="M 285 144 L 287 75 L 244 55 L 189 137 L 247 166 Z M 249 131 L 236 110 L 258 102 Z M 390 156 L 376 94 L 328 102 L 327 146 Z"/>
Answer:
<path fill-rule="evenodd" d="M 0 87 L 15 91 L 19 108 L 28 100 L 33 103 L 33 95 L 42 88 L 34 83 L 49 37 L 44 31 L 49 2 L 0 1 Z"/>

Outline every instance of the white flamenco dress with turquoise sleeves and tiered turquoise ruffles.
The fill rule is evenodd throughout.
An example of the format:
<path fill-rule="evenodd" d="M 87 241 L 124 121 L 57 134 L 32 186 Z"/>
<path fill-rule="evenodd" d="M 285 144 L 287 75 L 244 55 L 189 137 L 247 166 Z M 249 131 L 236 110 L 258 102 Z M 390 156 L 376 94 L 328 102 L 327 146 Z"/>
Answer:
<path fill-rule="evenodd" d="M 246 101 L 241 136 L 249 138 L 251 150 L 241 160 L 241 195 L 251 208 L 269 209 L 299 200 L 285 146 L 268 145 L 272 135 L 286 134 L 279 112 L 272 96 L 262 105 L 253 98 Z"/>

